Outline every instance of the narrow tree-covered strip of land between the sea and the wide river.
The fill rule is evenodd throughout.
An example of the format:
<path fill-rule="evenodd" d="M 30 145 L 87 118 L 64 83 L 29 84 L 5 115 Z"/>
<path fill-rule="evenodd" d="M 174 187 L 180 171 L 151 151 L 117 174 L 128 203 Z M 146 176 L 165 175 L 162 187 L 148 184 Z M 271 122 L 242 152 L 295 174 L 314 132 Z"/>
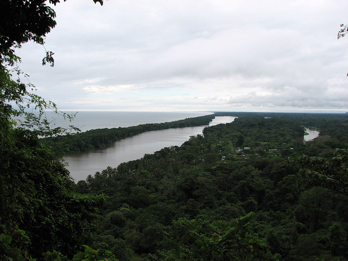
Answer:
<path fill-rule="evenodd" d="M 209 122 L 214 118 L 215 115 L 210 114 L 172 122 L 148 123 L 124 128 L 93 129 L 72 135 L 43 138 L 42 142 L 57 154 L 71 154 L 98 149 L 120 139 L 151 130 L 209 125 Z"/>

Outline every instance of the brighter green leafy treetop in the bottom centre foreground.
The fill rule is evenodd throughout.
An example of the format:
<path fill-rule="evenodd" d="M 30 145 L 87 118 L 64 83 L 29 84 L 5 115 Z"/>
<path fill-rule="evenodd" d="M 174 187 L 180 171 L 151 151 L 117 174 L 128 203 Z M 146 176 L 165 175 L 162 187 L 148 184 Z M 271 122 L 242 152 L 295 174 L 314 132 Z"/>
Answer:
<path fill-rule="evenodd" d="M 159 260 L 275 260 L 252 229 L 254 213 L 231 223 L 181 218 L 174 222 L 179 249 L 159 251 Z"/>

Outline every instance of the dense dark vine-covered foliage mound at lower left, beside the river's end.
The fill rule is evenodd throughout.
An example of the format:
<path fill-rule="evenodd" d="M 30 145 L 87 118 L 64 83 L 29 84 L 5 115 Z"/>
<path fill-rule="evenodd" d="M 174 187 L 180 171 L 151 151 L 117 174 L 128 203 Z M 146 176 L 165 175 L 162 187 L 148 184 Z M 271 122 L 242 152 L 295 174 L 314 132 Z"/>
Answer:
<path fill-rule="evenodd" d="M 75 195 L 69 172 L 33 132 L 10 129 L 7 139 L 0 146 L 2 232 L 25 230 L 39 253 L 58 245 L 71 252 L 91 229 L 104 197 Z"/>

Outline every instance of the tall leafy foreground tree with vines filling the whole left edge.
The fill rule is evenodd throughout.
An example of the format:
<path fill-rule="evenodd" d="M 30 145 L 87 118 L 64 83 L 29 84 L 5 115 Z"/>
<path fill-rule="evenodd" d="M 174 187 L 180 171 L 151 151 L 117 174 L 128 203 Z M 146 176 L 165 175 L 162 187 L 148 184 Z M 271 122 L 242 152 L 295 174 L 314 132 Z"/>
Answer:
<path fill-rule="evenodd" d="M 94 0 L 102 4 L 102 0 Z M 50 0 L 54 5 L 59 0 Z M 21 82 L 17 66 L 21 58 L 14 48 L 33 40 L 44 44 L 44 37 L 55 26 L 55 13 L 45 0 L 0 1 L 0 232 L 13 236 L 18 229 L 30 237 L 18 242 L 24 250 L 41 255 L 47 248 L 64 254 L 82 241 L 103 195 L 82 197 L 74 192 L 69 171 L 54 153 L 42 145 L 38 136 L 50 136 L 66 129 L 51 129 L 44 110 L 51 109 L 66 118 L 55 103 L 30 93 L 35 87 Z M 46 52 L 42 64 L 54 65 L 52 52 Z M 14 79 L 17 77 L 17 79 Z M 38 112 L 29 113 L 28 109 Z M 24 116 L 18 122 L 14 116 Z M 33 130 L 30 130 L 33 129 Z"/>

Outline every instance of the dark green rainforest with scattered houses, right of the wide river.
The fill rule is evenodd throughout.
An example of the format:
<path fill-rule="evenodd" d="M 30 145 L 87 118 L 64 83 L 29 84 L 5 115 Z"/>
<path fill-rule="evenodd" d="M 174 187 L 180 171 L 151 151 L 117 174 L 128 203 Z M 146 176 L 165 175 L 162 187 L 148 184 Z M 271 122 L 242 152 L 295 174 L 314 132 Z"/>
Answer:
<path fill-rule="evenodd" d="M 308 142 L 264 115 L 79 181 L 109 197 L 94 238 L 120 260 L 347 260 L 347 115 L 296 116 L 324 132 Z"/>

